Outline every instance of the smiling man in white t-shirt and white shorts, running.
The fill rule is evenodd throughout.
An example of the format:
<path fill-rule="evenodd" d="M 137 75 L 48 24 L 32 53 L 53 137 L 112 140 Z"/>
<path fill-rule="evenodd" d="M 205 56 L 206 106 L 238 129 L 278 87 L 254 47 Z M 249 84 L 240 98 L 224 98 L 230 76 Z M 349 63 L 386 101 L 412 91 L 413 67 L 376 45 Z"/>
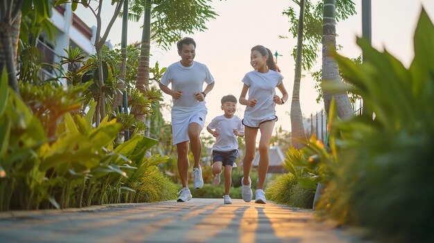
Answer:
<path fill-rule="evenodd" d="M 164 93 L 173 97 L 172 134 L 173 145 L 177 148 L 177 168 L 182 181 L 182 190 L 177 201 L 189 201 L 191 192 L 188 188 L 189 142 L 194 157 L 193 187 L 203 186 L 202 169 L 200 168 L 200 132 L 205 125 L 207 107 L 205 96 L 214 87 L 214 78 L 205 64 L 194 62 L 196 42 L 184 37 L 177 42 L 180 62 L 168 66 L 159 84 Z M 203 84 L 207 87 L 203 89 Z M 168 87 L 171 84 L 171 88 Z"/>

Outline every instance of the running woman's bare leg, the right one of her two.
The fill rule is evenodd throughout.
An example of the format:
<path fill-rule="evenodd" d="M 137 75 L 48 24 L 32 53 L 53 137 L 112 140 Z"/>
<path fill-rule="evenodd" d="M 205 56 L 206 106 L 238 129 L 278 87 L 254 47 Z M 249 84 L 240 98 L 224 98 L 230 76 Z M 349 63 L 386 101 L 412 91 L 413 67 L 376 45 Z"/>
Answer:
<path fill-rule="evenodd" d="M 275 126 L 275 123 L 275 120 L 270 120 L 259 125 L 259 129 L 261 130 L 261 138 L 259 139 L 259 181 L 257 189 L 262 189 L 263 183 L 266 181 L 269 162 L 268 148 L 272 135 L 272 128 Z"/>

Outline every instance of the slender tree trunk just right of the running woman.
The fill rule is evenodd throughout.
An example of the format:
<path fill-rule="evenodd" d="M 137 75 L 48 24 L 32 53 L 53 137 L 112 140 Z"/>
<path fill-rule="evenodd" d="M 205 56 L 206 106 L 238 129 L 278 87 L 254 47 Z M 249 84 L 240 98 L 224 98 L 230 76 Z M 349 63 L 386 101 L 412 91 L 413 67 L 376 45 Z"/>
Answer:
<path fill-rule="evenodd" d="M 300 81 L 302 79 L 302 48 L 303 48 L 303 23 L 305 1 L 300 1 L 300 18 L 298 19 L 297 34 L 297 56 L 295 57 L 295 78 L 293 87 L 293 98 L 290 109 L 291 119 L 291 141 L 292 146 L 300 150 L 304 145 L 297 141 L 297 138 L 306 138 L 303 125 L 302 107 L 300 105 Z"/>

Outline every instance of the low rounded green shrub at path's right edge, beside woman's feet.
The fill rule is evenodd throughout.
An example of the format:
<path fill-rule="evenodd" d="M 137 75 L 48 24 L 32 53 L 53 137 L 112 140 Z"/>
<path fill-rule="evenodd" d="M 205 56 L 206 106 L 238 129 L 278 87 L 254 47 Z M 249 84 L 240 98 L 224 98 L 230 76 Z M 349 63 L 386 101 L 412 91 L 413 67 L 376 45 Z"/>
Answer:
<path fill-rule="evenodd" d="M 312 208 L 315 190 L 304 188 L 290 173 L 282 174 L 266 188 L 267 199 L 277 204 L 298 208 Z"/>

